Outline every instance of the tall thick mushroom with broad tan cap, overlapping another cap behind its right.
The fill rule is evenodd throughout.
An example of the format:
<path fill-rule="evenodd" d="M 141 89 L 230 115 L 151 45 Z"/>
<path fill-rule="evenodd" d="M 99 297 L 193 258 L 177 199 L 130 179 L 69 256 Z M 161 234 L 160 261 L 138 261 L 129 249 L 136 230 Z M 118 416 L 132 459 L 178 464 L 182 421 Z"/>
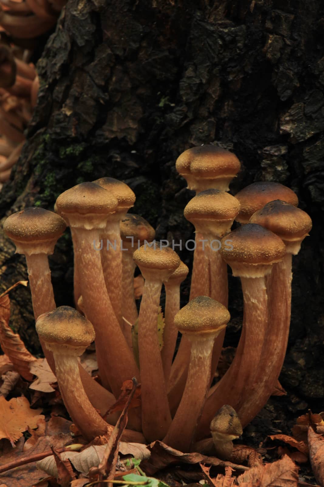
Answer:
<path fill-rule="evenodd" d="M 81 183 L 56 200 L 57 211 L 71 228 L 78 288 L 86 317 L 96 332 L 96 350 L 102 384 L 119 397 L 125 380 L 138 378 L 134 356 L 119 326 L 102 272 L 100 251 L 94 246 L 117 207 L 111 192 L 95 183 Z M 122 357 L 122 360 L 120 359 Z"/>

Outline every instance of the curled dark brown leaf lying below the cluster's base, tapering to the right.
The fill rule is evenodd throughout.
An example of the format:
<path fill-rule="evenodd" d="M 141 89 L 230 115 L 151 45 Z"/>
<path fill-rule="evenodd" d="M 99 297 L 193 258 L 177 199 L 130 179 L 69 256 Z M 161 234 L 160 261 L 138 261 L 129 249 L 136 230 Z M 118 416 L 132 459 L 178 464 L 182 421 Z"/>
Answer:
<path fill-rule="evenodd" d="M 168 447 L 161 441 L 154 441 L 151 445 L 148 445 L 148 450 L 151 451 L 151 456 L 148 460 L 144 460 L 141 463 L 141 468 L 148 476 L 153 475 L 158 470 L 168 467 L 169 465 L 175 465 L 178 463 L 198 464 L 206 463 L 214 467 L 231 467 L 236 470 L 245 471 L 248 467 L 242 465 L 236 465 L 232 462 L 224 462 L 219 458 L 208 457 L 201 453 L 182 453 L 179 450 Z"/>

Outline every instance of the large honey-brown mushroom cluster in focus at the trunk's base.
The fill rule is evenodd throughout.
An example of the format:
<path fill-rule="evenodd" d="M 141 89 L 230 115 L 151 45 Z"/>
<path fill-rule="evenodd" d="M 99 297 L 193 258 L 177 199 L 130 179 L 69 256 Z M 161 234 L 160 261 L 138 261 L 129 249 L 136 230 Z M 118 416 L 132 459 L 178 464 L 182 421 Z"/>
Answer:
<path fill-rule="evenodd" d="M 182 309 L 180 284 L 188 267 L 171 247 L 154 241 L 147 221 L 128 213 L 135 195 L 116 179 L 68 189 L 57 198 L 55 213 L 32 207 L 12 214 L 4 230 L 16 252 L 26 256 L 44 355 L 85 438 L 112 431 L 118 416 L 106 412 L 123 382 L 136 377 L 141 405 L 129 410 L 125 441 L 162 440 L 183 452 L 212 447 L 220 458 L 229 458 L 232 440 L 262 409 L 277 382 L 290 326 L 291 256 L 298 253 L 311 220 L 297 207 L 296 194 L 281 184 L 254 183 L 230 195 L 239 160 L 217 146 L 186 150 L 176 169 L 196 191 L 184 210 L 195 226 L 196 248 L 190 300 Z M 231 231 L 234 220 L 239 225 Z M 74 249 L 76 309 L 56 308 L 47 257 L 66 225 Z M 241 280 L 243 326 L 233 362 L 212 385 L 230 320 L 227 264 Z M 145 279 L 139 313 L 136 266 Z M 173 359 L 178 332 L 182 337 Z M 101 383 L 78 360 L 93 340 Z"/>

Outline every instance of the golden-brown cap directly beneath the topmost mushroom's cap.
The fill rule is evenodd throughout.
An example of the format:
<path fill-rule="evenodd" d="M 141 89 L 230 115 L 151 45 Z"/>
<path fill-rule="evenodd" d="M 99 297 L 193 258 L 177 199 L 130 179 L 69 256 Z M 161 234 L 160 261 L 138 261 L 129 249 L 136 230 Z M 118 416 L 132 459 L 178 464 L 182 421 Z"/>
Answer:
<path fill-rule="evenodd" d="M 234 196 L 219 189 L 205 189 L 189 201 L 184 215 L 197 232 L 222 236 L 231 229 L 238 212 L 239 202 Z"/>

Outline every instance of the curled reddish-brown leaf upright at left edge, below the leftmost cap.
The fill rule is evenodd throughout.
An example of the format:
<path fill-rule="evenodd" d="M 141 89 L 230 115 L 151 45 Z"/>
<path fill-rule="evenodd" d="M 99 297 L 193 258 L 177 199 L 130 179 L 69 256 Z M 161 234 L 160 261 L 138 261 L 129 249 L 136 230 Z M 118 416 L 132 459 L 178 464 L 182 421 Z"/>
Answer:
<path fill-rule="evenodd" d="M 30 362 L 36 358 L 28 352 L 19 335 L 9 326 L 10 300 L 6 294 L 0 297 L 0 345 L 6 356 L 15 365 L 15 369 L 26 380 L 33 380 L 29 371 Z"/>

